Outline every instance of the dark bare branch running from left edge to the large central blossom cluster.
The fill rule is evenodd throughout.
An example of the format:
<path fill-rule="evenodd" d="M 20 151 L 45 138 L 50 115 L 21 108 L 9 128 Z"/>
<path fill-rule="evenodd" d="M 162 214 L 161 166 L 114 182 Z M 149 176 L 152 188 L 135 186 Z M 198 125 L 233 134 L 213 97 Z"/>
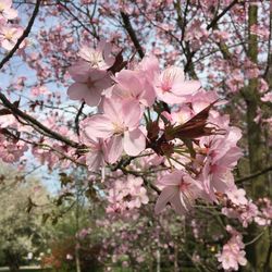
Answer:
<path fill-rule="evenodd" d="M 21 111 L 15 104 L 11 103 L 9 101 L 9 99 L 2 94 L 0 92 L 0 100 L 2 101 L 3 106 L 5 108 L 8 108 L 9 110 L 12 111 L 12 113 L 15 115 L 15 116 L 20 116 L 22 118 L 23 120 L 27 121 L 28 123 L 30 123 L 33 126 L 36 126 L 38 127 L 41 132 L 44 132 L 45 134 L 47 135 L 50 135 L 50 137 L 57 139 L 57 140 L 60 140 L 71 147 L 74 147 L 74 148 L 78 148 L 79 147 L 79 144 L 60 135 L 59 133 L 55 133 L 51 129 L 49 129 L 48 127 L 46 127 L 45 125 L 42 125 L 39 121 L 37 121 L 35 118 L 26 114 L 25 112 Z"/>

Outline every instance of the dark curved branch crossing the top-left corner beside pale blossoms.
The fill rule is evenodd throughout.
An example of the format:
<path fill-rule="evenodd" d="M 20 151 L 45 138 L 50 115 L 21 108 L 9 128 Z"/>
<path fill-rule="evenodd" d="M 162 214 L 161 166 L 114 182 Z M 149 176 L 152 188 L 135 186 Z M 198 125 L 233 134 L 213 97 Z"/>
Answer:
<path fill-rule="evenodd" d="M 3 58 L 3 60 L 0 62 L 0 70 L 3 67 L 3 65 L 13 57 L 13 54 L 17 51 L 17 49 L 20 48 L 21 44 L 24 41 L 24 39 L 29 35 L 33 24 L 35 22 L 35 18 L 39 12 L 39 7 L 40 7 L 40 2 L 41 0 L 37 0 L 34 11 L 33 11 L 33 15 L 28 22 L 28 25 L 26 26 L 23 35 L 17 39 L 16 45 L 12 48 L 12 50 Z"/>

